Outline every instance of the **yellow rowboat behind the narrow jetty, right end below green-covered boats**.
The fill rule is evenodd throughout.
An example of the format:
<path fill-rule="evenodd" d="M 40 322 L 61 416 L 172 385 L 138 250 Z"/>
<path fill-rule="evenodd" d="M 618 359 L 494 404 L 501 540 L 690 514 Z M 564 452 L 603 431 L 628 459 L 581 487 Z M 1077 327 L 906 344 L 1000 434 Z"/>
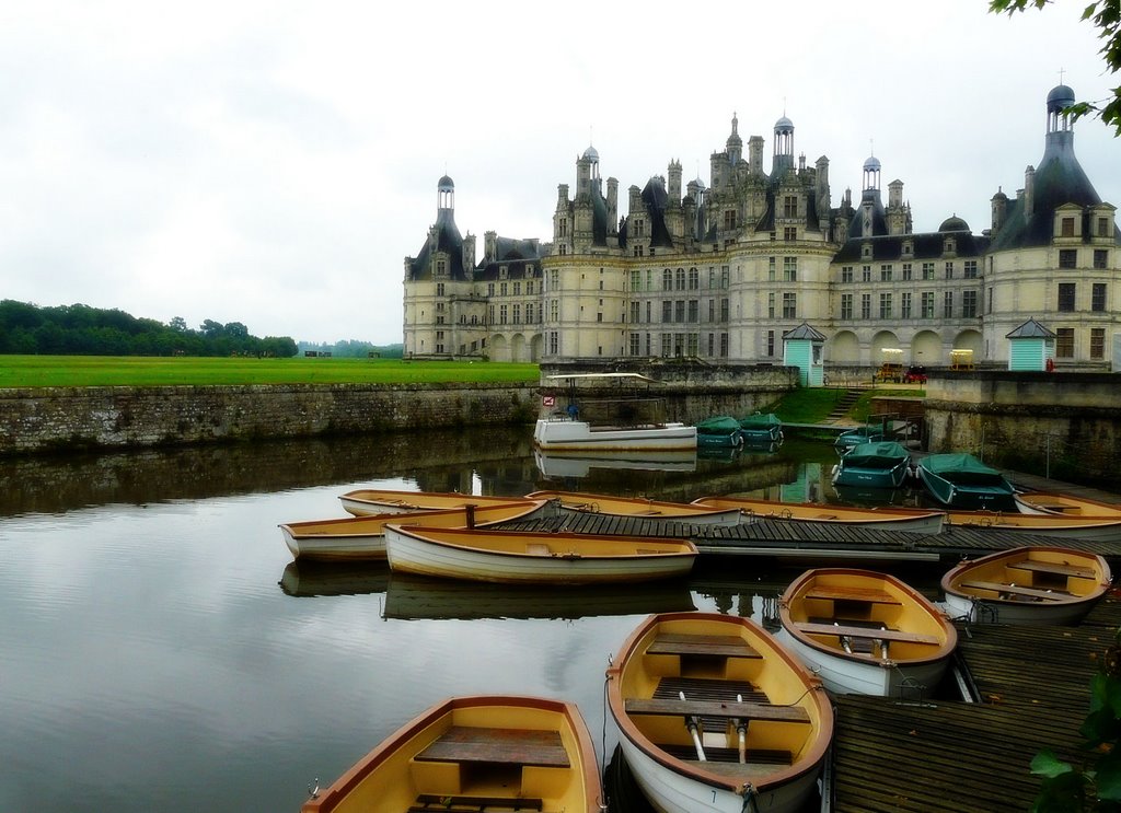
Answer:
<path fill-rule="evenodd" d="M 860 508 L 851 505 L 823 503 L 782 503 L 752 497 L 698 497 L 693 505 L 710 508 L 738 508 L 750 517 L 760 520 L 788 520 L 791 522 L 814 522 L 827 525 L 850 525 L 879 531 L 908 531 L 911 533 L 938 533 L 942 531 L 945 513 L 924 508 L 874 507 Z"/>

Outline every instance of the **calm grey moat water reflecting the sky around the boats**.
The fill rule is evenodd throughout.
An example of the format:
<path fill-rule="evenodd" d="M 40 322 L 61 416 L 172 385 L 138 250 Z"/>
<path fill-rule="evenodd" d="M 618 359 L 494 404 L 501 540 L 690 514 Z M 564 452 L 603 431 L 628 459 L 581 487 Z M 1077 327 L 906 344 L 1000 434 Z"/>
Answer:
<path fill-rule="evenodd" d="M 535 459 L 529 436 L 0 461 L 0 810 L 297 811 L 452 694 L 573 700 L 610 758 L 603 673 L 640 618 L 760 619 L 798 572 L 743 559 L 534 591 L 293 563 L 277 525 L 343 516 L 343 492 L 835 499 L 827 442 L 613 468 Z"/>

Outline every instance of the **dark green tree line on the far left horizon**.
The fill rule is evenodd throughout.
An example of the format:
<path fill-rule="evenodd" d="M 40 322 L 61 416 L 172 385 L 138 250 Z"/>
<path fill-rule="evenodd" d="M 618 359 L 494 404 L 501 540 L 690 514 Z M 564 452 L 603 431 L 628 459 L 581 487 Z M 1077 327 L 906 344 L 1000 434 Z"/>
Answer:
<path fill-rule="evenodd" d="M 259 338 L 240 321 L 206 319 L 198 329 L 182 317 L 168 324 L 123 310 L 61 305 L 40 308 L 0 300 L 0 353 L 74 356 L 276 356 L 296 355 L 287 336 Z"/>

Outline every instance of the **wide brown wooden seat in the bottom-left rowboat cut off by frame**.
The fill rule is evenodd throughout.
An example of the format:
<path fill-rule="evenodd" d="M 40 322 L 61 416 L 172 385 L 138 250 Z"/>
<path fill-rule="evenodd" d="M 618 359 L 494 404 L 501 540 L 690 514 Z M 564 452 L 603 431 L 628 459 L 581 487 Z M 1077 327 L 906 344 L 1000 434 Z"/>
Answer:
<path fill-rule="evenodd" d="M 452 726 L 414 758 L 418 761 L 569 767 L 568 753 L 559 733 L 520 728 Z"/>

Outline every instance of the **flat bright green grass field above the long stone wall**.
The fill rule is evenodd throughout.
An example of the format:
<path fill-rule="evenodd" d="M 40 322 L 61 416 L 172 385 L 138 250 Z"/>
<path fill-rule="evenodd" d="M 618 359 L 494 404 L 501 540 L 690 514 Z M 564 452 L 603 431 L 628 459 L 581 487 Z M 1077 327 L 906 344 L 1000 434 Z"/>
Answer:
<path fill-rule="evenodd" d="M 0 387 L 532 383 L 536 364 L 392 358 L 0 356 Z"/>

